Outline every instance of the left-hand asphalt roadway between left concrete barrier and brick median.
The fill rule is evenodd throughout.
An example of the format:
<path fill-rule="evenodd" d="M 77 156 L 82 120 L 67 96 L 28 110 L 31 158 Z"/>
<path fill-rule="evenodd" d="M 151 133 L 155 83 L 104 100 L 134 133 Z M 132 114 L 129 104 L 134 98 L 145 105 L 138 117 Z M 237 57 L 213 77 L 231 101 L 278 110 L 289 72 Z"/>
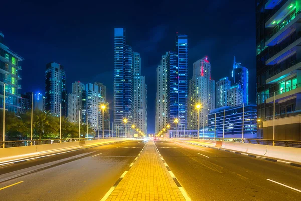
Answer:
<path fill-rule="evenodd" d="M 25 174 L 0 183 L 1 200 L 100 200 L 143 146 L 131 140 L 0 167 L 0 180 Z"/>

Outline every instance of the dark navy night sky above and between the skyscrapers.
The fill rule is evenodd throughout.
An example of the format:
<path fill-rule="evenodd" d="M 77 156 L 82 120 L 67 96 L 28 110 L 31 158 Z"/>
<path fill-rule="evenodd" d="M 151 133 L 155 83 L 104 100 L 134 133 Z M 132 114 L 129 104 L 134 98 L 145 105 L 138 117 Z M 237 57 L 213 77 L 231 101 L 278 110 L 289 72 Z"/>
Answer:
<path fill-rule="evenodd" d="M 204 56 L 212 79 L 230 77 L 235 55 L 249 69 L 249 98 L 255 103 L 254 1 L 12 0 L 1 7 L 4 44 L 25 59 L 19 93 L 44 93 L 46 64 L 57 62 L 65 67 L 68 92 L 74 81 L 102 82 L 112 107 L 114 28 L 123 27 L 128 44 L 142 58 L 149 133 L 155 131 L 156 68 L 161 55 L 174 50 L 176 32 L 188 35 L 188 79 L 193 62 Z"/>

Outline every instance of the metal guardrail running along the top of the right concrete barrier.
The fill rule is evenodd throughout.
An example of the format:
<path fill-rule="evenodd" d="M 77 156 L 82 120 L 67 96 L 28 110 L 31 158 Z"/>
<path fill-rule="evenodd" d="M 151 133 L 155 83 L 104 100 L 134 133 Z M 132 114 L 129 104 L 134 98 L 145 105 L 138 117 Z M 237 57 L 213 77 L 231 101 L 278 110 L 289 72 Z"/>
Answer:
<path fill-rule="evenodd" d="M 179 137 L 179 138 L 189 138 L 189 139 L 198 139 L 197 137 Z M 239 143 L 250 143 L 250 144 L 261 144 L 261 145 L 273 145 L 281 147 L 295 147 L 301 148 L 301 141 L 297 140 L 271 140 L 271 139 L 248 139 L 248 138 L 200 138 L 200 140 L 215 140 L 215 141 L 224 141 L 224 142 L 239 142 Z"/>

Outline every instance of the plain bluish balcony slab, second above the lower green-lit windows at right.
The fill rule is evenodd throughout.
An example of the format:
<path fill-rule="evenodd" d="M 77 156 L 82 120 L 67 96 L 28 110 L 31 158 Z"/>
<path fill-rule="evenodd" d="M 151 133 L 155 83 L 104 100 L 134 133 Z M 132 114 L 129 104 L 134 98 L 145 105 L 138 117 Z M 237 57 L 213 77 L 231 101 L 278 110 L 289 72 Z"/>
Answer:
<path fill-rule="evenodd" d="M 276 54 L 274 54 L 270 59 L 265 62 L 265 65 L 275 65 L 277 63 L 281 63 L 288 57 L 296 54 L 297 50 L 300 48 L 299 45 L 301 44 L 301 38 L 297 36 L 294 42 L 290 45 L 286 46 Z"/>

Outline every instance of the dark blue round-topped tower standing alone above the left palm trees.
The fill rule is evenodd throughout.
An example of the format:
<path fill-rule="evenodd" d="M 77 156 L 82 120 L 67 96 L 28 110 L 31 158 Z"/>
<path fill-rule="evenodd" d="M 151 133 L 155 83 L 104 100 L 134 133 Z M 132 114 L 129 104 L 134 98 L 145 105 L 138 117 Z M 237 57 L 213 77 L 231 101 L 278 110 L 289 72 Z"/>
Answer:
<path fill-rule="evenodd" d="M 48 63 L 45 71 L 45 110 L 53 116 L 67 116 L 67 89 L 64 67 Z"/>

